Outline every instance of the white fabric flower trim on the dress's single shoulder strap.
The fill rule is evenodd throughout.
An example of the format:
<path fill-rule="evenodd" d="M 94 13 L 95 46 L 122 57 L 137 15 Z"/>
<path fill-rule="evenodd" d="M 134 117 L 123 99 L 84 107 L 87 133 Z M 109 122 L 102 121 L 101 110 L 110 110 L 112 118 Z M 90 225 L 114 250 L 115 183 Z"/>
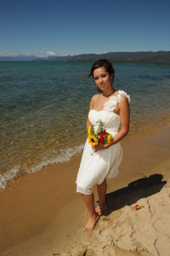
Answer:
<path fill-rule="evenodd" d="M 124 91 L 122 90 L 119 90 L 118 91 L 118 95 L 116 96 L 111 96 L 110 100 L 105 102 L 105 105 L 104 105 L 104 110 L 105 111 L 109 111 L 109 112 L 112 112 L 114 111 L 114 109 L 116 108 L 117 104 L 118 103 L 121 103 L 121 95 L 126 97 L 128 102 L 130 102 L 130 95 L 127 95 L 127 93 L 125 93 Z"/>

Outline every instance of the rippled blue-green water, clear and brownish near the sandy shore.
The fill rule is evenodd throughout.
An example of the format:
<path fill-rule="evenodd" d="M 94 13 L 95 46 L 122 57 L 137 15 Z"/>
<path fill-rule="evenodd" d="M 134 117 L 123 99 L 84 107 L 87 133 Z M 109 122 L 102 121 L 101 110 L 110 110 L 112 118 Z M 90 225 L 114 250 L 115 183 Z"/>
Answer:
<path fill-rule="evenodd" d="M 69 161 L 87 138 L 88 62 L 0 62 L 0 188 L 25 172 Z M 170 66 L 113 64 L 130 94 L 130 139 L 170 125 Z"/>

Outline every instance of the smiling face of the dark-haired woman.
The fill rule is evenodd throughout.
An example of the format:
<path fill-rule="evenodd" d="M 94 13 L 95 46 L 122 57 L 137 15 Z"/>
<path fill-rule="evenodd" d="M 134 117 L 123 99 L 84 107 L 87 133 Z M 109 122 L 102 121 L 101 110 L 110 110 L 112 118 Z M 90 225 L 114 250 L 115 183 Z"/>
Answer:
<path fill-rule="evenodd" d="M 104 91 L 107 88 L 111 88 L 111 79 L 113 76 L 105 71 L 105 67 L 99 67 L 94 70 L 94 82 L 100 90 Z"/>

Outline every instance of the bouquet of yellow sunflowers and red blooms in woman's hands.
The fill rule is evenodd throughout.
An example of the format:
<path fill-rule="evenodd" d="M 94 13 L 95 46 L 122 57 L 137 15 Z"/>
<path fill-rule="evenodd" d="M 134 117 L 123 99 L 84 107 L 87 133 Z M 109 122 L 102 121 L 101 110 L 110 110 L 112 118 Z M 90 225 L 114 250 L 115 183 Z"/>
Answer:
<path fill-rule="evenodd" d="M 103 129 L 104 122 L 101 122 L 100 119 L 98 122 L 99 122 L 99 127 L 97 129 L 97 134 L 94 133 L 93 126 L 90 126 L 88 128 L 88 143 L 94 146 L 98 145 L 99 143 L 111 144 L 112 135 L 106 133 L 105 129 Z"/>

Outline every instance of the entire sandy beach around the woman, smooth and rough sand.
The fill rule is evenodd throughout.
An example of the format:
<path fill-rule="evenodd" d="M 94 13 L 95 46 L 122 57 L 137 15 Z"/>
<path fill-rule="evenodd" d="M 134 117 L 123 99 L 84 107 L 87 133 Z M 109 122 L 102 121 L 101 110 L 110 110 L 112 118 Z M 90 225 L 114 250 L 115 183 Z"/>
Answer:
<path fill-rule="evenodd" d="M 75 184 L 81 154 L 10 182 L 0 191 L 0 255 L 169 256 L 169 142 L 166 128 L 122 144 L 120 173 L 108 180 L 108 210 L 88 234 Z M 94 195 L 97 204 L 95 187 Z"/>

